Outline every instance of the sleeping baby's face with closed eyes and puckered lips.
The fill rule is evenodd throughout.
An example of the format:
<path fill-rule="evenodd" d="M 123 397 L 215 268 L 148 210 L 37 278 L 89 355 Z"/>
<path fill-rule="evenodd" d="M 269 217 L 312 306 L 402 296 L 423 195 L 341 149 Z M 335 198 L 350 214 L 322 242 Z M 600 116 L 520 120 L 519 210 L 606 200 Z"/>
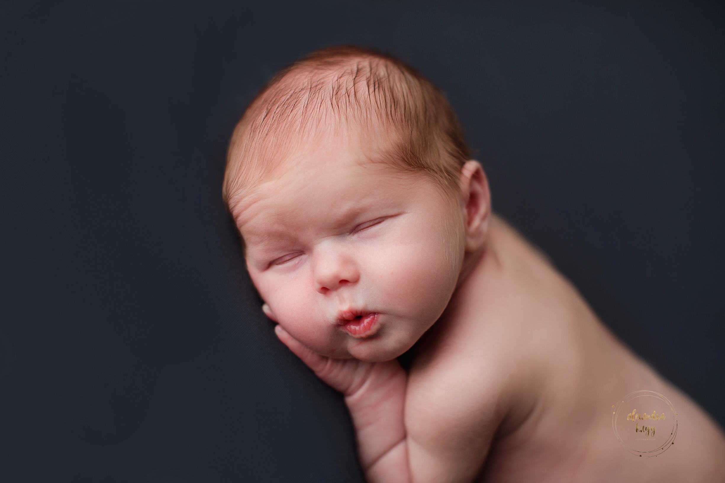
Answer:
<path fill-rule="evenodd" d="M 287 332 L 327 356 L 386 361 L 447 306 L 463 219 L 428 177 L 395 174 L 364 147 L 302 146 L 244 199 L 236 222 L 254 285 Z"/>

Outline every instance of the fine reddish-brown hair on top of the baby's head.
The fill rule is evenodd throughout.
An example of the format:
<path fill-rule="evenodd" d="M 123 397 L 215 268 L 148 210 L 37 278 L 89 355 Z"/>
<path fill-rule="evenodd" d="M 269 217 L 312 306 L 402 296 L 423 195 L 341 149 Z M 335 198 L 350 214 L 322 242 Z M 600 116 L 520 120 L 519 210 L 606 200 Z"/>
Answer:
<path fill-rule="evenodd" d="M 357 46 L 320 49 L 281 70 L 252 100 L 228 149 L 223 196 L 233 206 L 283 149 L 322 126 L 383 136 L 379 159 L 455 192 L 471 154 L 442 91 L 410 65 Z"/>

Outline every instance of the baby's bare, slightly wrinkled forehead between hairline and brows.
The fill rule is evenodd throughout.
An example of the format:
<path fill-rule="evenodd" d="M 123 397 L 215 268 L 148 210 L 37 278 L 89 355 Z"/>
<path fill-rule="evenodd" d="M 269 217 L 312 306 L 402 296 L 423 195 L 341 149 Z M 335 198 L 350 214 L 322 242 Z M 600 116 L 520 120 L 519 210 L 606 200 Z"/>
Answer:
<path fill-rule="evenodd" d="M 384 133 L 349 125 L 325 127 L 316 135 L 291 136 L 280 144 L 283 148 L 268 151 L 267 159 L 249 163 L 257 170 L 250 173 L 253 181 L 237 203 L 230 203 L 240 228 L 257 219 L 265 220 L 257 230 L 268 231 L 270 219 L 287 225 L 315 212 L 318 225 L 347 226 L 368 211 L 405 204 L 421 188 L 420 180 L 434 187 L 434 196 L 450 198 L 428 173 L 389 162 L 394 147 Z"/>

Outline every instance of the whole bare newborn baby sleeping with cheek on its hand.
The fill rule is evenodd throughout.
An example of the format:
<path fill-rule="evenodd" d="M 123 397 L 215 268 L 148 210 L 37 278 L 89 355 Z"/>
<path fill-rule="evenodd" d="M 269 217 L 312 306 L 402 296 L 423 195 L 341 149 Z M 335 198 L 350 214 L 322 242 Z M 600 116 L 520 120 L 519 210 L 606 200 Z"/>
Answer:
<path fill-rule="evenodd" d="M 492 214 L 452 108 L 399 60 L 336 47 L 280 72 L 223 194 L 278 337 L 344 394 L 369 482 L 725 479 L 713 421 Z M 679 411 L 658 458 L 613 434 L 634 390 Z"/>

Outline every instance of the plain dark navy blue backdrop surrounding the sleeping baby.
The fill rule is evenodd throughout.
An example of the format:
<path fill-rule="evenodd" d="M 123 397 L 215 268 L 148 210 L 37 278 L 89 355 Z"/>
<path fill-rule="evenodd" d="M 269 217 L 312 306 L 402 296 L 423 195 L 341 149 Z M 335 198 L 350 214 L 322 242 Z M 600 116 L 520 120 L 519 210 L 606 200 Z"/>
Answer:
<path fill-rule="evenodd" d="M 725 422 L 722 3 L 2 1 L 0 481 L 363 481 L 220 199 L 244 106 L 336 43 L 439 85 L 494 209 Z"/>

